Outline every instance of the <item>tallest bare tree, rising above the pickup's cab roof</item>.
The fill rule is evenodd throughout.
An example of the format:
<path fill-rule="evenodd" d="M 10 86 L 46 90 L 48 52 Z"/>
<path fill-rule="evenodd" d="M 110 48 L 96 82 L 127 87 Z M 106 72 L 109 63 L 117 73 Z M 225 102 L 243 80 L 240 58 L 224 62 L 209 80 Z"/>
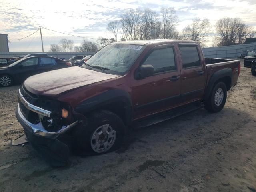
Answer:
<path fill-rule="evenodd" d="M 162 24 L 163 24 L 163 38 L 169 38 L 169 33 L 175 30 L 175 26 L 178 23 L 178 17 L 175 14 L 174 8 L 161 8 Z"/>

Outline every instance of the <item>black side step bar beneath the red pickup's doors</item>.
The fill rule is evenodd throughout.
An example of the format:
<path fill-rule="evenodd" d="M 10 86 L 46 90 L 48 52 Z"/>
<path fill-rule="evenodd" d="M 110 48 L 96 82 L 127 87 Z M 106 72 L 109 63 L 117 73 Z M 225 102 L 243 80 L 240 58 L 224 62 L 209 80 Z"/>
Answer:
<path fill-rule="evenodd" d="M 195 102 L 195 103 L 192 103 L 192 104 L 188 104 L 186 106 L 182 106 L 182 107 L 179 107 L 179 108 L 176 108 L 176 109 L 172 109 L 172 110 L 169 110 L 167 112 L 162 112 L 160 114 L 156 114 L 156 115 L 153 115 L 153 116 L 148 117 L 148 118 L 143 118 L 143 119 L 140 119 L 140 120 L 136 120 L 133 123 L 132 127 L 134 129 L 136 129 L 136 128 L 143 128 L 143 127 L 146 127 L 146 126 L 157 124 L 157 123 L 175 118 L 177 116 L 181 116 L 183 114 L 192 112 L 194 110 L 202 108 L 203 106 L 204 105 L 202 104 L 202 102 Z"/>

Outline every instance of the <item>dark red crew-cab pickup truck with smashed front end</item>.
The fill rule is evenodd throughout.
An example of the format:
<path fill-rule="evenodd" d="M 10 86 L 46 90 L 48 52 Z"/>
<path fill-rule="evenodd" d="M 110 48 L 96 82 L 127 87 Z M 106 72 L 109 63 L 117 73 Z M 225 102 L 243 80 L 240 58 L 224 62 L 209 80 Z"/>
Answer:
<path fill-rule="evenodd" d="M 239 60 L 204 58 L 194 41 L 116 42 L 80 66 L 29 77 L 16 117 L 32 146 L 59 166 L 70 150 L 117 149 L 129 128 L 202 106 L 222 110 L 239 73 Z"/>

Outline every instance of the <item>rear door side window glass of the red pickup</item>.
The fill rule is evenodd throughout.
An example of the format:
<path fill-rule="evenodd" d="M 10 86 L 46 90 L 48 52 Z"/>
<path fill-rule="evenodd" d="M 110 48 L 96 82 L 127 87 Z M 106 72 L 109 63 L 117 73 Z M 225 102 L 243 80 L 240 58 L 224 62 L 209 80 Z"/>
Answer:
<path fill-rule="evenodd" d="M 201 66 L 197 48 L 180 47 L 180 54 L 183 68 Z"/>

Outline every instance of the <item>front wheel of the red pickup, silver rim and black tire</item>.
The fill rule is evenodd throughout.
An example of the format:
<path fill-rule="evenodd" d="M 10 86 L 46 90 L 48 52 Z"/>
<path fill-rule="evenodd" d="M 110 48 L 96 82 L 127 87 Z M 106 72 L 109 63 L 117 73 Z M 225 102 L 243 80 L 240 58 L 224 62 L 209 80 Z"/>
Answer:
<path fill-rule="evenodd" d="M 88 123 L 74 131 L 74 151 L 86 154 L 103 154 L 116 150 L 124 136 L 124 123 L 113 112 L 100 110 L 88 116 Z"/>

